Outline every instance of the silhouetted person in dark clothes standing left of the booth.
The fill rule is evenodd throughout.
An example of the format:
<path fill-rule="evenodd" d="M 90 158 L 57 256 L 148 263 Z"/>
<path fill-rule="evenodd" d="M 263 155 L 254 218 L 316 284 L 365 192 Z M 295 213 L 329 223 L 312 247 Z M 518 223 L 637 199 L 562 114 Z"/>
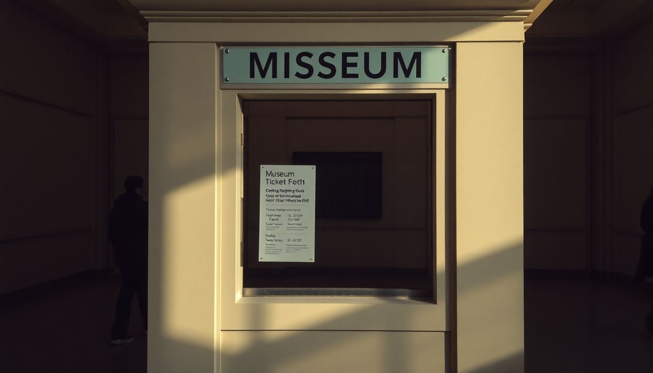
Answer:
<path fill-rule="evenodd" d="M 143 325 L 148 330 L 148 203 L 144 180 L 140 176 L 125 179 L 125 191 L 114 202 L 109 218 L 109 240 L 114 246 L 120 268 L 121 287 L 111 330 L 111 344 L 129 343 L 127 332 L 131 300 L 136 293 Z"/>

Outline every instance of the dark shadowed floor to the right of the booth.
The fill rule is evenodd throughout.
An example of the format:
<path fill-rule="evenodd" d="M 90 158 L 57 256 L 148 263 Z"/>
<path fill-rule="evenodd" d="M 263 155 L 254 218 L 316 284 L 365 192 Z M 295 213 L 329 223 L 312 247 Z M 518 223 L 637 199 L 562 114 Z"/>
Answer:
<path fill-rule="evenodd" d="M 653 372 L 643 286 L 526 280 L 524 295 L 526 372 Z"/>

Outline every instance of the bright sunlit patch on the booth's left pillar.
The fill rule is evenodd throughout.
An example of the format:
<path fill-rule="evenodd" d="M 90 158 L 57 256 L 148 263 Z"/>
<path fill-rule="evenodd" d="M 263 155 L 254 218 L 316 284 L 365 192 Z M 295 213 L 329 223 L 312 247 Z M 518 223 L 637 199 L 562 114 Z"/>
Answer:
<path fill-rule="evenodd" d="M 168 191 L 162 199 L 160 255 L 160 331 L 166 338 L 214 346 L 215 267 L 214 176 Z M 210 234 L 207 234 L 210 233 Z M 158 252 L 157 252 L 158 251 Z M 156 261 L 151 261 L 156 263 Z"/>

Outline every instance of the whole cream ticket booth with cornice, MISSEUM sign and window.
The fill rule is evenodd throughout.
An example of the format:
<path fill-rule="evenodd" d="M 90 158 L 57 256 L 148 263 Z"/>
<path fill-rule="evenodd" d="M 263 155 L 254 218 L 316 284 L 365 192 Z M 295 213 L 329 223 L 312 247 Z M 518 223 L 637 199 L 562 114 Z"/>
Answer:
<path fill-rule="evenodd" d="M 522 42 L 548 1 L 132 3 L 150 372 L 523 370 Z"/>

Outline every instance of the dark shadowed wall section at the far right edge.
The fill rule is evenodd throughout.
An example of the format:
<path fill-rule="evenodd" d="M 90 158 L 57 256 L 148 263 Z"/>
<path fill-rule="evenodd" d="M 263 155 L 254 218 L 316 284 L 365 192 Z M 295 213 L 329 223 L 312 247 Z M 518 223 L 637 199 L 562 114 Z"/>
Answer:
<path fill-rule="evenodd" d="M 613 58 L 613 250 L 611 270 L 633 276 L 641 206 L 653 184 L 653 20 L 615 42 Z"/>

